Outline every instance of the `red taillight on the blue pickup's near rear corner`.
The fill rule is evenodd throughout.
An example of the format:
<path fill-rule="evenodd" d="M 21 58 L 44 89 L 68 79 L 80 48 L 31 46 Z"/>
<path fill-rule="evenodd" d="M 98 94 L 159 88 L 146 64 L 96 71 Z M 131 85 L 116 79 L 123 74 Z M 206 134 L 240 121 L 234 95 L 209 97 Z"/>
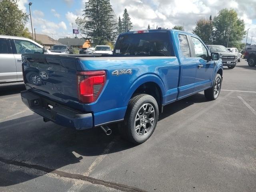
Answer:
<path fill-rule="evenodd" d="M 77 72 L 78 98 L 82 103 L 96 101 L 106 82 L 105 71 Z"/>

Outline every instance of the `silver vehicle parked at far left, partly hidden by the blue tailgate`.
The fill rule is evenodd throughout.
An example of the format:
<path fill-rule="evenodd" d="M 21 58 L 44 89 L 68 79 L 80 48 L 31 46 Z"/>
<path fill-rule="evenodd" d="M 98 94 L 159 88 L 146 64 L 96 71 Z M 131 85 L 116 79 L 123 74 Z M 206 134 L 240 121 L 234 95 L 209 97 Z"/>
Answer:
<path fill-rule="evenodd" d="M 31 39 L 0 35 L 0 86 L 23 84 L 21 54 L 43 52 L 43 46 Z"/>

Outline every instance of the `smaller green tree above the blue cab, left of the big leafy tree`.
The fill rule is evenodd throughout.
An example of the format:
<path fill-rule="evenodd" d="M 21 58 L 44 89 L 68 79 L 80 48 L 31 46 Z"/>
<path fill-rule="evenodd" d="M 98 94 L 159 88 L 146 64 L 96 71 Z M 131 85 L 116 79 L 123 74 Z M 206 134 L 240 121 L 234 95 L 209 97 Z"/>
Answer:
<path fill-rule="evenodd" d="M 212 21 L 202 18 L 196 22 L 193 33 L 199 36 L 205 44 L 212 44 L 212 30 Z"/>

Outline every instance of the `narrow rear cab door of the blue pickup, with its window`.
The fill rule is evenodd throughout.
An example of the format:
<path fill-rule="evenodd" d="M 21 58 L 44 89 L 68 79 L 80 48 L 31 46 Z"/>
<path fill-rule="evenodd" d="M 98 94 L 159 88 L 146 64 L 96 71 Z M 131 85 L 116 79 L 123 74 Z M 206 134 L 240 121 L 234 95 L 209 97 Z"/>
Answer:
<path fill-rule="evenodd" d="M 182 99 L 194 93 L 194 83 L 196 77 L 196 60 L 192 58 L 192 48 L 187 34 L 178 34 L 179 53 L 181 62 L 180 93 L 178 99 Z"/>

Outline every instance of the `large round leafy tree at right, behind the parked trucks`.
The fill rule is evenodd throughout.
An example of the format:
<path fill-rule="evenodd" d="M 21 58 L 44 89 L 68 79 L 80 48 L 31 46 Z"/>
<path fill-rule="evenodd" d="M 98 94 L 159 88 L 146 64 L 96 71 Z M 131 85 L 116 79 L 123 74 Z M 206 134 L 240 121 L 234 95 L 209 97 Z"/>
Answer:
<path fill-rule="evenodd" d="M 234 9 L 222 9 L 213 19 L 212 40 L 214 44 L 227 47 L 240 47 L 246 31 L 244 20 L 237 16 Z"/>

